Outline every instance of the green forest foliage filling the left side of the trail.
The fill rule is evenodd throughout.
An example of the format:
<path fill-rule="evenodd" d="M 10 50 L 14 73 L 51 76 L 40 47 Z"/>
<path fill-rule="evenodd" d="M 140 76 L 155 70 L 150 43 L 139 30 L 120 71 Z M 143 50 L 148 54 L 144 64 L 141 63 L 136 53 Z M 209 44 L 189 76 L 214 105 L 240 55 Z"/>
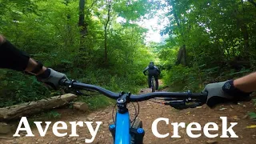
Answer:
<path fill-rule="evenodd" d="M 126 6 L 126 2 L 112 2 L 106 52 L 103 28 L 108 12 L 106 1 L 86 1 L 84 37 L 78 26 L 78 0 L 1 1 L 0 34 L 44 66 L 63 72 L 69 78 L 117 92 L 137 92 L 139 86 L 146 84 L 142 70 L 154 57 L 144 45 L 146 30 L 135 21 L 149 13 L 152 5 L 145 3 L 147 1 L 133 1 Z M 118 16 L 126 18 L 125 25 L 116 21 Z M 12 70 L 0 71 L 0 92 L 0 107 L 59 93 L 47 90 L 30 75 Z M 93 109 L 109 104 L 104 97 L 87 98 L 86 102 L 95 105 Z"/>

